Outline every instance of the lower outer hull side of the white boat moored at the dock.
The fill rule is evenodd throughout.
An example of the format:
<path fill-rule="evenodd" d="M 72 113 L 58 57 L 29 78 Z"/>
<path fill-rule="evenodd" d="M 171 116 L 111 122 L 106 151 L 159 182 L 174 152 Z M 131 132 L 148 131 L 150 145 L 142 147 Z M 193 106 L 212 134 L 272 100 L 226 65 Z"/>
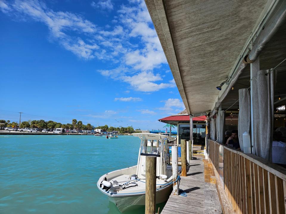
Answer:
<path fill-rule="evenodd" d="M 156 191 L 156 204 L 165 202 L 169 199 L 172 192 L 172 184 L 168 187 Z M 108 196 L 108 199 L 115 204 L 121 213 L 130 210 L 136 210 L 145 205 L 145 193 L 142 195 L 130 195 L 130 196 Z"/>

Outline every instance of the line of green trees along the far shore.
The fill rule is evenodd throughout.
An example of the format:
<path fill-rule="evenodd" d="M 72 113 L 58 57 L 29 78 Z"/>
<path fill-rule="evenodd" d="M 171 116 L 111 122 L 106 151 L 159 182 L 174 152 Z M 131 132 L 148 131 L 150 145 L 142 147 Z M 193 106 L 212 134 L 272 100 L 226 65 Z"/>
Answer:
<path fill-rule="evenodd" d="M 10 120 L 0 120 L 1 127 L 19 127 L 19 123 L 10 122 Z M 133 133 L 134 129 L 132 126 L 128 127 L 113 127 L 108 125 L 94 127 L 90 123 L 84 125 L 82 121 L 77 121 L 77 119 L 72 119 L 71 123 L 62 124 L 52 120 L 28 120 L 21 122 L 21 128 L 40 128 L 40 129 L 55 129 L 55 128 L 64 128 L 72 130 L 93 130 L 93 129 L 102 129 L 103 131 L 118 131 L 119 133 Z"/>

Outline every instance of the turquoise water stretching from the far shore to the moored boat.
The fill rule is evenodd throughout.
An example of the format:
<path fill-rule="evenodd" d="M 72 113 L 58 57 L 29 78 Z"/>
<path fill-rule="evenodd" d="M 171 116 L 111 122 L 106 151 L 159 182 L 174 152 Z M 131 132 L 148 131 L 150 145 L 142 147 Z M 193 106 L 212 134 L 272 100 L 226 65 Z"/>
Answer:
<path fill-rule="evenodd" d="M 0 135 L 0 213 L 120 213 L 96 183 L 136 165 L 139 144 L 133 136 Z"/>

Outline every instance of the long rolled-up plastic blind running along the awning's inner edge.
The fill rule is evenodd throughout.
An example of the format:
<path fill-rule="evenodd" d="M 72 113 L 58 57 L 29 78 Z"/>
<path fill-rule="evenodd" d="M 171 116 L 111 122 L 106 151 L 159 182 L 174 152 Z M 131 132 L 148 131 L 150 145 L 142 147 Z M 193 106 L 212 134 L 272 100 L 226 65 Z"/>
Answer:
<path fill-rule="evenodd" d="M 262 29 L 262 32 L 257 37 L 257 42 L 254 44 L 249 55 L 246 55 L 245 57 L 243 57 L 243 59 L 241 59 L 241 62 L 237 67 L 236 71 L 234 72 L 233 76 L 231 77 L 226 90 L 223 92 L 223 94 L 220 96 L 219 100 L 215 104 L 215 108 L 211 111 L 210 117 L 213 117 L 216 114 L 217 108 L 220 106 L 222 101 L 225 99 L 226 95 L 234 86 L 238 77 L 243 72 L 247 64 L 252 63 L 257 59 L 257 57 L 259 56 L 265 45 L 278 31 L 279 27 L 285 22 L 285 19 L 286 19 L 286 0 L 282 0 L 277 4 L 273 12 L 273 15 L 271 15 L 271 17 L 265 24 L 264 28 Z"/>

